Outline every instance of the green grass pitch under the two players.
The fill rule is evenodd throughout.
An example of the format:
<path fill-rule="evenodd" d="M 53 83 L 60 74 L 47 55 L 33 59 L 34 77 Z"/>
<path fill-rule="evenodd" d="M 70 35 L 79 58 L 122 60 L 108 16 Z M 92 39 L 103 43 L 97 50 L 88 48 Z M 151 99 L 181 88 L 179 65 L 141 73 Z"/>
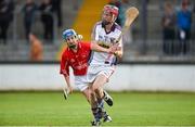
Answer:
<path fill-rule="evenodd" d="M 103 126 L 195 126 L 195 93 L 113 92 L 113 118 Z M 90 106 L 79 92 L 1 92 L 0 125 L 89 126 Z"/>

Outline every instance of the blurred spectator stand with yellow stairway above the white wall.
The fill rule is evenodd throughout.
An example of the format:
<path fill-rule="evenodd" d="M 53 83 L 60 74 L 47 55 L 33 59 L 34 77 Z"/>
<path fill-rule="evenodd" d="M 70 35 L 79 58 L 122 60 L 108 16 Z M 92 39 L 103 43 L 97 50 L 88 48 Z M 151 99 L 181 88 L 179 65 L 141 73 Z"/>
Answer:
<path fill-rule="evenodd" d="M 90 40 L 93 25 L 108 2 L 119 8 L 117 23 L 121 26 L 127 7 L 140 10 L 123 37 L 122 62 L 195 60 L 193 0 L 1 0 L 0 61 L 31 61 L 29 33 L 41 42 L 41 61 L 58 61 L 62 30 L 75 28 L 83 40 Z M 188 11 L 186 26 L 179 16 L 183 8 Z"/>

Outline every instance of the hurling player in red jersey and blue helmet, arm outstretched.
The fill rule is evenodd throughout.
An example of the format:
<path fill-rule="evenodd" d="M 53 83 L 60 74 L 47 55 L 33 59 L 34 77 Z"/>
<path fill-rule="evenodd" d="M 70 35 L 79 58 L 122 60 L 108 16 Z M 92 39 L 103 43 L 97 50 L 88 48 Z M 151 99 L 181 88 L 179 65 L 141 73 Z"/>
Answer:
<path fill-rule="evenodd" d="M 64 30 L 63 39 L 65 42 L 67 42 L 67 49 L 62 54 L 60 73 L 64 75 L 67 88 L 70 92 L 73 92 L 73 87 L 69 81 L 69 67 L 72 67 L 75 76 L 76 87 L 84 94 L 88 102 L 91 104 L 91 109 L 95 109 L 98 106 L 96 99 L 94 98 L 94 92 L 91 91 L 91 88 L 87 81 L 88 60 L 90 58 L 90 52 L 93 50 L 98 52 L 114 53 L 117 50 L 117 46 L 106 49 L 100 47 L 95 42 L 83 42 L 79 39 L 74 29 Z"/>

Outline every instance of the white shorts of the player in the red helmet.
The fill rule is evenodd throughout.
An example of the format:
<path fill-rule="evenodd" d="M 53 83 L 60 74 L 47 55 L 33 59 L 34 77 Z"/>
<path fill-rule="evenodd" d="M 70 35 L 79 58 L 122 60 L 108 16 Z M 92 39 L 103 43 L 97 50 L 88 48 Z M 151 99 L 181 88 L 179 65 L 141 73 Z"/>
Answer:
<path fill-rule="evenodd" d="M 92 84 L 99 75 L 104 75 L 107 81 L 115 72 L 115 66 L 110 65 L 90 65 L 88 68 L 87 80 Z"/>

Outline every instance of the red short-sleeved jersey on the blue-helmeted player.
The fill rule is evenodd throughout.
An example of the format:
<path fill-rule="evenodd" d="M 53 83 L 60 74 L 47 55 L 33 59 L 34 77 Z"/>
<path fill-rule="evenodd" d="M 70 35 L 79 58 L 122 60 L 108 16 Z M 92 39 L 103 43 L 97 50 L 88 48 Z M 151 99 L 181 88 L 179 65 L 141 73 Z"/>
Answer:
<path fill-rule="evenodd" d="M 69 76 L 69 66 L 74 71 L 74 75 L 86 75 L 88 71 L 88 60 L 91 51 L 91 42 L 78 42 L 78 50 L 74 52 L 67 48 L 61 60 L 61 74 Z"/>

